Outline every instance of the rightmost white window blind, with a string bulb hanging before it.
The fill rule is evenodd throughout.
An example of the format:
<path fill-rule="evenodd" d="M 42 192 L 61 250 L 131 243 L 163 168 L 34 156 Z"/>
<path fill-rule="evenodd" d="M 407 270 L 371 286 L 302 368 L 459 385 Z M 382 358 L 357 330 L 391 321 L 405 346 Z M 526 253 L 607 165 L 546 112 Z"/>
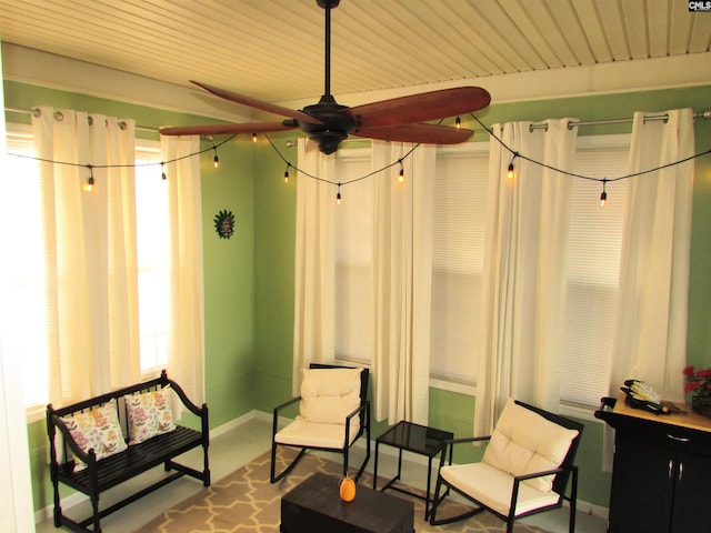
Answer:
<path fill-rule="evenodd" d="M 630 135 L 581 137 L 574 172 L 624 175 L 629 147 Z M 602 184 L 573 179 L 560 388 L 567 403 L 598 405 L 608 394 L 627 190 L 627 180 L 608 183 L 601 208 Z"/>

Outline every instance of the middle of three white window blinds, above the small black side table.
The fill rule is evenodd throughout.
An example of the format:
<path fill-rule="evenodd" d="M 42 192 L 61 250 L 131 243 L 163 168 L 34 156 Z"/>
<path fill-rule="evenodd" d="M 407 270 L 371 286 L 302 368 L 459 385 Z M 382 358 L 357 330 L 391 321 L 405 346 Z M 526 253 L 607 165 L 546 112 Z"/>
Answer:
<path fill-rule="evenodd" d="M 473 385 L 480 358 L 489 143 L 437 153 L 430 375 Z"/>

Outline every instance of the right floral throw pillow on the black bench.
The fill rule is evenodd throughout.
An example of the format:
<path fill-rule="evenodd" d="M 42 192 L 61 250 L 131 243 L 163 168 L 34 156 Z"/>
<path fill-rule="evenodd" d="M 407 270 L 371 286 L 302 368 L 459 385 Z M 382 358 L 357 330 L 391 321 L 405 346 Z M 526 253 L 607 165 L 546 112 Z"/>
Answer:
<path fill-rule="evenodd" d="M 176 429 L 170 386 L 123 396 L 128 414 L 129 444 L 138 444 Z"/>

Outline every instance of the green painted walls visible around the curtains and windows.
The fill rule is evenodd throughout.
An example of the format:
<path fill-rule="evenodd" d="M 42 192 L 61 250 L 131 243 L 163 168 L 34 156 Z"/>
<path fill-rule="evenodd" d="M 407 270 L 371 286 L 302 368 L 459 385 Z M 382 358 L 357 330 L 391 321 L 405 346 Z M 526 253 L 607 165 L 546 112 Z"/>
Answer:
<path fill-rule="evenodd" d="M 633 111 L 664 111 L 709 107 L 711 86 L 633 94 L 568 98 L 551 101 L 493 104 L 479 113 L 487 124 L 510 120 L 538 121 L 549 117 L 579 120 L 628 118 Z M 31 108 L 38 104 L 68 107 L 117 117 L 131 117 L 137 123 L 194 124 L 210 120 L 127 104 L 84 94 L 68 93 L 21 83 L 4 83 L 6 104 Z M 495 95 L 494 95 L 495 102 Z M 9 113 L 9 121 L 27 115 Z M 479 125 L 464 119 L 464 125 Z M 580 134 L 629 132 L 629 125 L 581 129 Z M 695 129 L 697 151 L 711 148 L 711 122 Z M 157 138 L 152 133 L 140 135 Z M 220 169 L 212 168 L 213 152 L 201 160 L 206 273 L 206 384 L 211 426 L 216 428 L 253 409 L 271 412 L 291 395 L 291 354 L 293 324 L 293 260 L 296 184 L 300 179 L 290 170 L 289 183 L 283 173 L 287 161 L 297 164 L 296 148 L 284 141 L 294 135 L 273 135 L 272 144 L 251 139 L 232 141 L 220 148 Z M 484 140 L 478 134 L 474 140 Z M 206 144 L 206 148 L 211 144 Z M 281 153 L 278 154 L 274 148 Z M 688 352 L 691 363 L 711 365 L 711 157 L 695 162 L 692 255 L 689 301 Z M 212 219 L 231 210 L 237 231 L 230 240 L 218 239 Z M 601 395 L 605 391 L 601 391 Z M 432 389 L 430 423 L 453 431 L 472 433 L 474 400 L 464 394 Z M 580 499 L 608 505 L 609 474 L 600 471 L 602 425 L 588 421 L 580 450 Z M 373 433 L 384 430 L 375 423 Z M 36 509 L 49 505 L 51 494 L 47 473 L 44 424 L 30 424 Z M 470 449 L 455 459 L 475 459 L 481 451 Z"/>

